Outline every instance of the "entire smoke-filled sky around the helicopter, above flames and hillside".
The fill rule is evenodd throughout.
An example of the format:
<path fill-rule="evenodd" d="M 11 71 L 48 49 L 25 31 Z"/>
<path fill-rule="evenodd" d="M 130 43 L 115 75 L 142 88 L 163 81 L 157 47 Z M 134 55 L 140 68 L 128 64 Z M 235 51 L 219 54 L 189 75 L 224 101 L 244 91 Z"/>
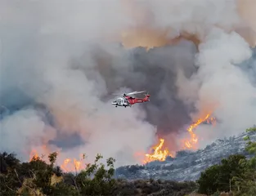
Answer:
<path fill-rule="evenodd" d="M 186 127 L 209 112 L 218 124 L 198 128 L 202 146 L 244 131 L 256 123 L 253 7 L 236 0 L 1 1 L 1 149 L 24 160 L 31 149 L 57 149 L 62 159 L 101 153 L 122 165 L 137 163 L 134 154 L 157 136 L 179 149 Z M 142 90 L 150 102 L 110 105 L 112 93 Z"/>

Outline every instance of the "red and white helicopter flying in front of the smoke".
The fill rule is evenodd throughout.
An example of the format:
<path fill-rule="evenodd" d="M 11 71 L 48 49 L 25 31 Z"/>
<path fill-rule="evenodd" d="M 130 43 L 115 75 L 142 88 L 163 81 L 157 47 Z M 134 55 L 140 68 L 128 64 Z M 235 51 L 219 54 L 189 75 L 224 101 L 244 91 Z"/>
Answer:
<path fill-rule="evenodd" d="M 134 105 L 134 104 L 150 101 L 149 100 L 150 95 L 148 93 L 142 99 L 132 97 L 132 95 L 139 94 L 141 92 L 145 92 L 145 91 L 133 91 L 133 92 L 129 92 L 129 93 L 124 93 L 123 96 L 120 96 L 119 98 L 114 100 L 112 102 L 112 105 L 115 105 L 115 107 L 123 106 L 124 108 L 126 108 L 128 106 L 132 107 L 132 105 Z M 114 95 L 116 95 L 116 94 L 114 94 Z"/>

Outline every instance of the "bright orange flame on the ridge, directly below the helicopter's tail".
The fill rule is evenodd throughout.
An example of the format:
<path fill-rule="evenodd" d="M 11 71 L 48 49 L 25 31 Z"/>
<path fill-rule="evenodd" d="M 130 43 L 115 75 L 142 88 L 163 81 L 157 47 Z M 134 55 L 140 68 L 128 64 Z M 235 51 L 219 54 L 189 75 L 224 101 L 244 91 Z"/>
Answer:
<path fill-rule="evenodd" d="M 167 156 L 173 157 L 173 155 L 168 152 L 168 149 L 162 150 L 163 145 L 164 145 L 164 139 L 160 138 L 159 144 L 155 145 L 152 148 L 152 149 L 154 149 L 154 153 L 153 154 L 145 154 L 146 160 L 144 160 L 144 163 L 149 163 L 149 162 L 156 161 L 156 160 L 164 161 L 167 158 Z"/>

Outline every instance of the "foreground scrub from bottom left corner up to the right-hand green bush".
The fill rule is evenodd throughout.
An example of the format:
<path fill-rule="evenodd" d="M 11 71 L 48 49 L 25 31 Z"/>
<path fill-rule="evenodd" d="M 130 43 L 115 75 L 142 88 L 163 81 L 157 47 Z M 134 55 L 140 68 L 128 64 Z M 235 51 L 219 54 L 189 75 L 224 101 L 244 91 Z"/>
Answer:
<path fill-rule="evenodd" d="M 14 154 L 3 153 L 1 158 L 0 195 L 173 195 L 183 196 L 196 188 L 195 182 L 177 183 L 171 180 L 115 180 L 115 159 L 106 160 L 106 166 L 88 164 L 84 171 L 74 175 L 63 173 L 55 165 L 56 153 L 48 156 L 50 164 L 41 158 L 20 163 Z"/>

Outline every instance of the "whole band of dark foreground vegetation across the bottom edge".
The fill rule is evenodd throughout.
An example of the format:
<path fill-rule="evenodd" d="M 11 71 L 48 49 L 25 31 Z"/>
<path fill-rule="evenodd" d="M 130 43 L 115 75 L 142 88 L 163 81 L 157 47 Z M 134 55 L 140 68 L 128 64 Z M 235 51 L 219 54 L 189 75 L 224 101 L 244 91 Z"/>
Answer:
<path fill-rule="evenodd" d="M 247 131 L 256 131 L 250 128 Z M 116 180 L 115 159 L 108 158 L 106 166 L 88 164 L 78 174 L 64 173 L 56 166 L 57 154 L 49 154 L 49 163 L 33 158 L 20 163 L 15 154 L 0 154 L 0 195 L 173 195 L 184 196 L 192 192 L 204 195 L 220 195 L 222 191 L 232 195 L 256 195 L 256 142 L 247 140 L 246 149 L 254 154 L 246 159 L 235 154 L 222 159 L 201 173 L 197 182 L 178 183 L 171 180 Z M 195 195 L 191 194 L 191 195 Z M 223 195 L 223 194 L 222 194 Z"/>

